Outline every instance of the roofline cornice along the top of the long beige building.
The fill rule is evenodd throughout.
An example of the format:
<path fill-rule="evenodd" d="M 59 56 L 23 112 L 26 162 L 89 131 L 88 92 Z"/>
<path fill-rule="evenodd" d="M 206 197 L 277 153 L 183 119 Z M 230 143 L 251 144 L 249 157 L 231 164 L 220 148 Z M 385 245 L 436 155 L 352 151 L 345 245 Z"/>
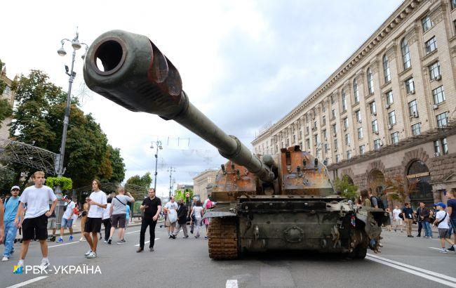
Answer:
<path fill-rule="evenodd" d="M 330 90 L 338 84 L 340 79 L 344 77 L 348 72 L 352 72 L 355 67 L 358 67 L 361 60 L 365 59 L 370 53 L 377 48 L 377 46 L 384 41 L 384 39 L 391 34 L 396 27 L 404 22 L 410 15 L 417 9 L 420 4 L 425 0 L 408 0 L 404 1 L 389 18 L 383 22 L 383 24 L 347 59 L 342 65 L 340 65 L 333 74 L 326 79 L 316 90 L 305 98 L 299 105 L 297 105 L 290 113 L 286 114 L 285 117 L 280 119 L 278 122 L 273 124 L 267 131 L 261 133 L 255 140 L 251 142 L 252 145 L 261 142 L 264 139 L 269 138 L 274 134 L 275 131 L 281 129 L 283 126 L 288 124 L 290 119 L 293 119 L 304 111 L 307 107 L 312 105 L 323 93 Z M 415 30 L 415 29 L 414 29 Z"/>

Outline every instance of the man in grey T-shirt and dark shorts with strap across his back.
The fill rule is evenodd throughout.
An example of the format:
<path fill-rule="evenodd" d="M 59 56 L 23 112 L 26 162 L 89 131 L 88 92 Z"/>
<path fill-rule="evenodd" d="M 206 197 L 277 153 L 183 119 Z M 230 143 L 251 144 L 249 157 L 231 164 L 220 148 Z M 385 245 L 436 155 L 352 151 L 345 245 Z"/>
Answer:
<path fill-rule="evenodd" d="M 126 207 L 128 206 L 128 202 L 134 203 L 135 198 L 131 196 L 130 192 L 126 192 L 122 186 L 117 188 L 118 194 L 112 198 L 112 203 L 110 209 L 111 213 L 111 233 L 109 233 L 109 239 L 107 240 L 107 244 L 111 244 L 112 236 L 114 235 L 114 231 L 116 228 L 119 228 L 119 240 L 116 244 L 123 244 L 125 240 L 123 240 L 123 229 L 125 229 L 126 223 Z"/>

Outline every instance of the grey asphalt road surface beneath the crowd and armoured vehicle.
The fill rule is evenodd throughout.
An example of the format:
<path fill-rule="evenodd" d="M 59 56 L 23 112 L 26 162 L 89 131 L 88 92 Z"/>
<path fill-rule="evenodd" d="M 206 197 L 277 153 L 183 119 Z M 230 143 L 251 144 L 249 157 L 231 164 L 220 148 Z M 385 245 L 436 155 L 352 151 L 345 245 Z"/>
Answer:
<path fill-rule="evenodd" d="M 370 252 L 353 261 L 309 253 L 249 254 L 236 261 L 208 258 L 207 240 L 167 237 L 156 228 L 155 251 L 137 254 L 139 227 L 127 230 L 126 244 L 100 243 L 98 258 L 86 259 L 86 242 L 52 242 L 52 272 L 14 275 L 11 261 L 0 263 L 0 286 L 27 283 L 27 287 L 456 287 L 456 254 L 440 254 L 440 242 L 407 238 L 405 233 L 384 232 L 381 254 Z M 146 233 L 148 240 L 148 233 Z M 65 237 L 67 238 L 67 237 Z M 147 246 L 147 244 L 146 244 Z M 3 247 L 2 247 L 3 248 Z M 18 252 L 20 247 L 16 244 Z M 39 265 L 39 243 L 29 248 L 25 265 Z M 55 273 L 53 266 L 93 266 L 100 273 Z M 68 268 L 67 268 L 68 269 Z M 27 282 L 29 281 L 29 282 Z M 16 286 L 20 287 L 20 286 Z"/>

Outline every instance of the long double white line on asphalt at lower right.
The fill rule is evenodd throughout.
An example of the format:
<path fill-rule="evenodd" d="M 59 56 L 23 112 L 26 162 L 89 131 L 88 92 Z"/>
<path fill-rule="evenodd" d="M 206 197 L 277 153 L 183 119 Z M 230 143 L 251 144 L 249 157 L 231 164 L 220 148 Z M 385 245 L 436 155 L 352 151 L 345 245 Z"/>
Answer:
<path fill-rule="evenodd" d="M 436 273 L 434 271 L 411 266 L 411 265 L 408 265 L 405 263 L 401 263 L 401 262 L 394 261 L 394 260 L 391 260 L 388 258 L 376 256 L 373 254 L 368 254 L 368 256 L 366 256 L 366 258 L 368 258 L 370 261 L 382 263 L 386 266 L 390 266 L 390 267 L 393 267 L 393 268 L 396 268 L 399 270 L 403 270 L 405 272 L 412 273 L 414 275 L 424 277 L 424 278 L 432 280 L 432 281 L 441 282 L 442 284 L 448 285 L 450 287 L 456 287 L 456 278 L 455 277 L 450 277 L 448 275 L 443 275 L 441 273 Z M 441 279 L 439 279 L 439 278 L 441 278 Z"/>

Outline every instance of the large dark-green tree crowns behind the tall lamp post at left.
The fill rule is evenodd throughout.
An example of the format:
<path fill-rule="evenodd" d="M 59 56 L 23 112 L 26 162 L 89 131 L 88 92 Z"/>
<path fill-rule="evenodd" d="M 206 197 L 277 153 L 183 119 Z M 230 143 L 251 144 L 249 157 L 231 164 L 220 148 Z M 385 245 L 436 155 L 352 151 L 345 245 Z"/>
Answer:
<path fill-rule="evenodd" d="M 32 70 L 28 77 L 22 75 L 13 89 L 17 105 L 10 136 L 58 153 L 67 101 L 65 91 L 48 81 L 48 76 L 39 70 Z M 65 176 L 72 178 L 74 187 L 87 185 L 93 178 L 110 181 L 114 175 L 116 179 L 124 175 L 120 151 L 108 145 L 100 125 L 91 114 L 83 113 L 75 98 L 70 107 L 64 165 Z M 14 167 L 17 178 L 23 172 L 27 174 L 25 181 L 33 173 L 27 166 L 15 164 Z"/>

